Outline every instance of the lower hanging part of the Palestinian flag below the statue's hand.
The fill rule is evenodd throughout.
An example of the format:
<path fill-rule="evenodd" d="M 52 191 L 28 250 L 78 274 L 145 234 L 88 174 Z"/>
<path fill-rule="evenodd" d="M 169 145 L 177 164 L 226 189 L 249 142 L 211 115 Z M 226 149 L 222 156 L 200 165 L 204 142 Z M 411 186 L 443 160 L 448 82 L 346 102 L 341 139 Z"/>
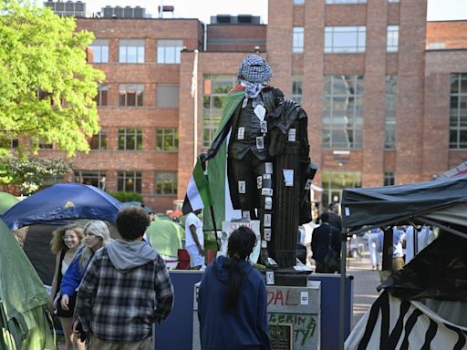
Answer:
<path fill-rule="evenodd" d="M 212 203 L 209 183 L 204 175 L 204 170 L 202 170 L 201 161 L 198 158 L 193 169 L 192 178 L 190 182 L 188 182 L 188 187 L 186 189 L 185 200 L 182 206 L 183 215 L 204 207 L 209 207 Z"/>

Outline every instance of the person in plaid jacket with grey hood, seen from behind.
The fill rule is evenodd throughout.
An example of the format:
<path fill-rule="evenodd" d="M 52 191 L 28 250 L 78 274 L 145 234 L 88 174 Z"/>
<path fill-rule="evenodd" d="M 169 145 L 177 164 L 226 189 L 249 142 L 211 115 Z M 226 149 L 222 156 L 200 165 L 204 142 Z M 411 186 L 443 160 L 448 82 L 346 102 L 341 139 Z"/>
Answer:
<path fill-rule="evenodd" d="M 171 313 L 173 287 L 165 262 L 142 236 L 150 225 L 144 209 L 117 215 L 121 240 L 96 252 L 79 285 L 75 333 L 88 349 L 152 349 L 152 324 Z"/>

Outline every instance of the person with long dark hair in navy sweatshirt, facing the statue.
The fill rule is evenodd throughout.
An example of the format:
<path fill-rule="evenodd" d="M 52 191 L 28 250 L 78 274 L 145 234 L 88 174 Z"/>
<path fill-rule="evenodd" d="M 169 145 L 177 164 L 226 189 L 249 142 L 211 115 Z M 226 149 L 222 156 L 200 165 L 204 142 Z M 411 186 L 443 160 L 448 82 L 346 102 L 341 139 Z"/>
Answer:
<path fill-rule="evenodd" d="M 256 237 L 246 226 L 232 232 L 227 256 L 208 265 L 198 293 L 202 350 L 271 348 L 266 288 L 246 259 Z"/>

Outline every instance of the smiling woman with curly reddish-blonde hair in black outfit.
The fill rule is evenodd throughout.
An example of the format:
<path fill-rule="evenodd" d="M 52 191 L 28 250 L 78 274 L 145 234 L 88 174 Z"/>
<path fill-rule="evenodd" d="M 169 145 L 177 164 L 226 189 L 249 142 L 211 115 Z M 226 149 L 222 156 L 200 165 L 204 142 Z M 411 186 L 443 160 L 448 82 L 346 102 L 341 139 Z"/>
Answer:
<path fill-rule="evenodd" d="M 54 314 L 57 314 L 62 325 L 66 350 L 73 350 L 73 348 L 84 350 L 84 345 L 81 342 L 78 343 L 73 334 L 73 310 L 62 309 L 59 302 L 61 296 L 59 293 L 60 283 L 65 273 L 67 273 L 68 266 L 73 261 L 76 252 L 78 252 L 83 236 L 83 229 L 76 224 L 72 224 L 60 227 L 52 232 L 52 240 L 50 241 L 50 249 L 56 254 L 55 273 L 50 293 L 50 309 Z M 75 296 L 72 295 L 72 298 Z M 75 304 L 74 299 L 71 304 Z"/>

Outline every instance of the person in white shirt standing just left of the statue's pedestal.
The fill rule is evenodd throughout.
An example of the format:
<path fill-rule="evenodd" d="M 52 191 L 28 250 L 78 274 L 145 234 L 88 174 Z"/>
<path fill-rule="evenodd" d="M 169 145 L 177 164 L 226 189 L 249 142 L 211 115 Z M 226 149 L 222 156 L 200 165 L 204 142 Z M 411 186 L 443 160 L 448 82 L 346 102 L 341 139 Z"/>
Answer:
<path fill-rule="evenodd" d="M 190 212 L 185 219 L 185 249 L 190 254 L 190 269 L 200 270 L 204 265 L 204 233 L 198 218 L 201 209 Z"/>

